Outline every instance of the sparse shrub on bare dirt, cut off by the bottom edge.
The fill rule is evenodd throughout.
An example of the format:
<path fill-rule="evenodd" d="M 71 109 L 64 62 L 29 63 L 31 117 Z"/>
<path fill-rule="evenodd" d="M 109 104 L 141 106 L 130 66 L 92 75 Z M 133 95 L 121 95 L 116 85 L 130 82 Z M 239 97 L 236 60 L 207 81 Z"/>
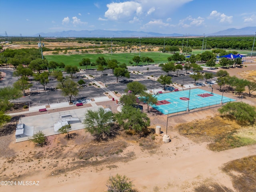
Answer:
<path fill-rule="evenodd" d="M 116 174 L 116 176 L 110 176 L 108 178 L 106 186 L 108 187 L 107 192 L 136 192 L 133 189 L 134 185 L 132 181 L 126 176 Z"/>

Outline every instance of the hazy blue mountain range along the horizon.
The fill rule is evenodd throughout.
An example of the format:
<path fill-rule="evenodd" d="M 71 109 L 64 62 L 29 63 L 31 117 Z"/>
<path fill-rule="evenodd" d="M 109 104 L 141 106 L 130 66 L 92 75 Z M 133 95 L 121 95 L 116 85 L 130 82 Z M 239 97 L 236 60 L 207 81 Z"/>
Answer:
<path fill-rule="evenodd" d="M 256 26 L 254 27 L 244 27 L 240 29 L 229 28 L 226 30 L 205 34 L 206 36 L 242 36 L 242 35 L 254 35 L 256 32 Z M 110 30 L 82 30 L 82 31 L 62 31 L 62 32 L 48 32 L 48 33 L 38 33 L 33 36 L 42 37 L 92 37 L 92 38 L 122 38 L 122 37 L 182 37 L 183 34 L 172 33 L 172 34 L 162 34 L 156 32 L 143 32 L 143 31 L 130 31 L 130 30 L 122 30 L 122 31 L 110 31 Z M 4 34 L 0 34 L 0 36 L 5 36 Z M 17 35 L 13 35 L 17 36 Z M 202 36 L 202 34 L 190 34 L 190 36 Z"/>

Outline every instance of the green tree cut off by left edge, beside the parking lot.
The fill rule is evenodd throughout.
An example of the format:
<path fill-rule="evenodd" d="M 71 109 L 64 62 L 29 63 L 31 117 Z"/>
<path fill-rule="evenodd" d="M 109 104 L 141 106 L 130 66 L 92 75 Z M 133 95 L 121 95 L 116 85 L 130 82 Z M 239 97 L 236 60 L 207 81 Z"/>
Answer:
<path fill-rule="evenodd" d="M 3 87 L 0 88 L 0 102 L 2 101 L 4 105 L 6 105 L 6 109 L 9 109 L 12 104 L 11 100 L 18 99 L 22 97 L 22 93 L 20 90 L 14 87 Z"/>

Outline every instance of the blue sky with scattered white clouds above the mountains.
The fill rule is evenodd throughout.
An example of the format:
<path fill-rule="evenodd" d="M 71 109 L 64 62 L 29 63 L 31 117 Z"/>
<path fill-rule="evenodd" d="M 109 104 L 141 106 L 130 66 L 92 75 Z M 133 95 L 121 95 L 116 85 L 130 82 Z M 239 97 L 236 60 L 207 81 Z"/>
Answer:
<path fill-rule="evenodd" d="M 134 30 L 210 34 L 256 26 L 255 0 L 0 0 L 0 34 Z"/>

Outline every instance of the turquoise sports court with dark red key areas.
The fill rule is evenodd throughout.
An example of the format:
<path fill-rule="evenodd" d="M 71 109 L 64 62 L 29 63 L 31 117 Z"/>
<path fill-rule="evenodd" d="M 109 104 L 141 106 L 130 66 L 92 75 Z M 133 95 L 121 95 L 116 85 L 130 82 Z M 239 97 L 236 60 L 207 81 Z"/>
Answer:
<path fill-rule="evenodd" d="M 201 89 L 163 93 L 156 96 L 158 104 L 152 107 L 162 112 L 163 114 L 171 114 L 181 111 L 186 111 L 195 108 L 201 108 L 206 106 L 212 106 L 216 104 L 232 102 L 234 99 L 228 97 L 222 97 L 222 95 L 211 94 L 211 92 Z M 188 106 L 189 105 L 189 106 Z"/>

